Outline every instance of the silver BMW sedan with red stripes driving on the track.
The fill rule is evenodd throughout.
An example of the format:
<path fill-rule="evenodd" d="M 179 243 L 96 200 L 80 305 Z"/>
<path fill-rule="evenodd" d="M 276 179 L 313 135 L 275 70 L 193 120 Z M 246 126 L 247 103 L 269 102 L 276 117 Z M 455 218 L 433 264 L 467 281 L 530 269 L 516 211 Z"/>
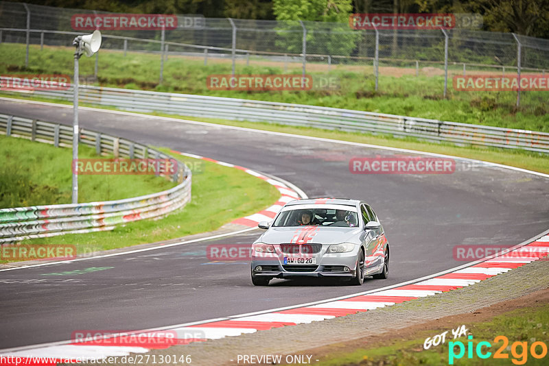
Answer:
<path fill-rule="evenodd" d="M 272 278 L 338 277 L 361 285 L 388 278 L 389 243 L 377 215 L 356 199 L 299 199 L 285 204 L 252 245 L 256 286 Z"/>

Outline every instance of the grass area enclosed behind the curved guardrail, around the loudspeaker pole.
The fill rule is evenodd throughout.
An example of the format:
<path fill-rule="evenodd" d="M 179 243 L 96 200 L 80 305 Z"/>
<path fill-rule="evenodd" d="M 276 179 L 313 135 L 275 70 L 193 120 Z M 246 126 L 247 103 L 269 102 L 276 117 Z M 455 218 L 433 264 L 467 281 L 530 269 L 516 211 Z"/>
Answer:
<path fill-rule="evenodd" d="M 97 158 L 80 145 L 79 158 Z M 105 157 L 106 158 L 106 157 Z M 72 150 L 0 135 L 0 208 L 71 203 Z M 154 175 L 79 175 L 78 201 L 110 201 L 165 191 Z"/>

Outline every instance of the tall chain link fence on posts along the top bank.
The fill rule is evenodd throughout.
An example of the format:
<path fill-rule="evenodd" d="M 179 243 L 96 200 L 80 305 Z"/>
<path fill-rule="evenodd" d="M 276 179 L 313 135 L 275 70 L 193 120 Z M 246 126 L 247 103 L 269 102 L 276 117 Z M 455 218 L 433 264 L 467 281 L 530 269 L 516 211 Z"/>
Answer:
<path fill-rule="evenodd" d="M 0 1 L 0 41 L 29 45 L 70 46 L 76 34 L 75 14 L 110 14 L 43 5 Z M 471 29 L 351 29 L 347 23 L 211 19 L 178 15 L 170 30 L 103 31 L 102 49 L 158 53 L 169 56 L 231 62 L 233 73 L 248 66 L 329 72 L 334 69 L 375 77 L 375 90 L 383 88 L 379 76 L 444 77 L 440 90 L 447 94 L 454 75 L 482 73 L 545 74 L 549 69 L 549 40 L 509 33 Z M 97 77 L 97 58 L 95 77 Z M 517 98 L 517 103 L 519 99 Z"/>

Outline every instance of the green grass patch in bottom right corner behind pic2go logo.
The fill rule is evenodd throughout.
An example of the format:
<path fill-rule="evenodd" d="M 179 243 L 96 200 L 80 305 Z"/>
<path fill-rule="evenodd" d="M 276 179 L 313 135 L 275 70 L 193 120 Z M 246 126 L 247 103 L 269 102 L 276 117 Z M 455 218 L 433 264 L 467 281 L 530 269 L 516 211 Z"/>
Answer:
<path fill-rule="evenodd" d="M 461 326 L 461 324 L 455 324 L 454 329 Z M 403 341 L 389 341 L 386 346 L 364 347 L 353 352 L 347 352 L 346 354 L 334 353 L 329 354 L 325 359 L 314 365 L 318 366 L 377 366 L 377 365 L 448 365 L 449 361 L 449 341 L 461 341 L 465 345 L 465 354 L 462 358 L 454 360 L 454 365 L 515 365 L 512 360 L 517 361 L 517 365 L 520 361 L 526 360 L 526 365 L 547 365 L 549 355 L 544 358 L 536 359 L 529 354 L 530 346 L 535 341 L 544 342 L 549 346 L 548 342 L 548 327 L 549 327 L 549 306 L 541 306 L 535 308 L 521 308 L 513 310 L 512 312 L 499 315 L 491 319 L 491 321 L 485 321 L 476 323 L 473 325 L 466 325 L 469 333 L 473 335 L 472 345 L 473 356 L 467 358 L 467 337 L 460 337 L 453 339 L 450 328 L 430 330 L 429 332 L 423 331 L 414 334 L 413 339 L 406 339 Z M 434 346 L 432 345 L 429 350 L 423 349 L 423 343 L 427 337 L 434 337 L 436 334 L 448 330 L 446 334 L 445 343 Z M 495 342 L 494 338 L 497 336 L 505 336 L 509 339 L 509 345 L 506 350 L 503 350 L 504 354 L 508 354 L 507 359 L 493 358 L 493 354 L 503 344 L 502 341 Z M 449 337 L 449 338 L 448 338 Z M 482 359 L 476 355 L 476 345 L 481 341 L 487 341 L 491 344 L 491 347 L 487 349 L 486 345 L 482 347 L 482 352 L 491 352 L 491 357 Z M 516 341 L 526 342 L 528 345 L 528 355 L 526 358 L 522 356 L 522 348 L 513 346 Z M 515 347 L 517 356 L 513 356 L 512 349 Z M 455 347 L 455 352 L 458 354 L 458 346 Z M 541 353 L 541 347 L 537 347 L 537 353 Z"/>

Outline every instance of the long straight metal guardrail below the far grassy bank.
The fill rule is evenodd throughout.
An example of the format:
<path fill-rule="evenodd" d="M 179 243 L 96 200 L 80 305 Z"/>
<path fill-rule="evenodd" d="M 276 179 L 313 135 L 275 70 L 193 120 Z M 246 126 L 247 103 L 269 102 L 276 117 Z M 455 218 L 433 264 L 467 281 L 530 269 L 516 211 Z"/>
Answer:
<path fill-rule="evenodd" d="M 25 95 L 29 95 L 25 90 Z M 34 90 L 32 95 L 73 99 L 69 90 Z M 318 127 L 327 130 L 412 136 L 458 145 L 482 145 L 549 153 L 549 133 L 472 125 L 270 101 L 159 93 L 144 90 L 80 86 L 80 102 L 135 112 L 164 112 L 207 117 Z"/>

